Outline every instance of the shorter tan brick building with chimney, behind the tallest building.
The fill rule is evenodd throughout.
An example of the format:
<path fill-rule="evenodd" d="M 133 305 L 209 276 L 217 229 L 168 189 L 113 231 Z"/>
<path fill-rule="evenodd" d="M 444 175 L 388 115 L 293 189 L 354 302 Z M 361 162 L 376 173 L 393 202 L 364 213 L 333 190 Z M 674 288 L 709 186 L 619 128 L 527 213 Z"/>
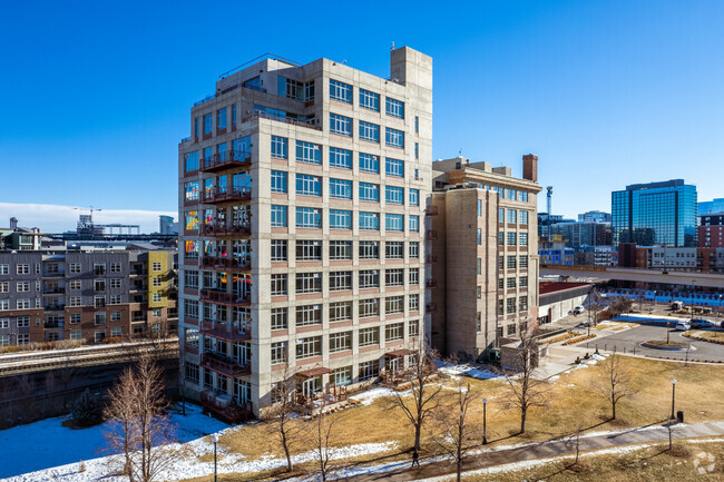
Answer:
<path fill-rule="evenodd" d="M 432 163 L 431 341 L 479 358 L 538 319 L 538 156 L 522 178 L 457 157 Z"/>

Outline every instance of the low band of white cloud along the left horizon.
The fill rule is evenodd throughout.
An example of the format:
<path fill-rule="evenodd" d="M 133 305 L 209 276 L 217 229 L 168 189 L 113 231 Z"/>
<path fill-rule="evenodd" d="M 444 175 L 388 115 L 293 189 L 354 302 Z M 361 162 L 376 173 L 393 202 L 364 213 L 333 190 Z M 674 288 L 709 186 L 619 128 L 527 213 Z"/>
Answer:
<path fill-rule="evenodd" d="M 82 210 L 75 209 L 80 207 Z M 62 233 L 75 230 L 78 216 L 89 214 L 88 207 L 59 206 L 52 204 L 0 203 L 0 227 L 9 227 L 12 216 L 18 218 L 18 226 L 39 227 L 42 233 Z M 139 209 L 94 210 L 96 224 L 140 225 L 141 233 L 158 232 L 158 216 L 178 217 L 178 213 Z"/>

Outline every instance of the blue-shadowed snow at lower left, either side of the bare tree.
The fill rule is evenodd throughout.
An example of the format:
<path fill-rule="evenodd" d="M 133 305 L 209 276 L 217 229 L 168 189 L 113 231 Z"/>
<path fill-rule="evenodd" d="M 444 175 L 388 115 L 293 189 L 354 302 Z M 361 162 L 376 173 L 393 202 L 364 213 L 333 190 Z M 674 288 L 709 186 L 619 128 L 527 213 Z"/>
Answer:
<path fill-rule="evenodd" d="M 176 437 L 180 442 L 228 429 L 225 423 L 203 415 L 200 407 L 192 404 L 186 405 L 185 417 L 177 410 L 170 417 L 179 425 Z M 0 478 L 108 455 L 104 440 L 106 424 L 71 430 L 62 426 L 66 420 L 68 416 L 46 419 L 0 431 Z"/>

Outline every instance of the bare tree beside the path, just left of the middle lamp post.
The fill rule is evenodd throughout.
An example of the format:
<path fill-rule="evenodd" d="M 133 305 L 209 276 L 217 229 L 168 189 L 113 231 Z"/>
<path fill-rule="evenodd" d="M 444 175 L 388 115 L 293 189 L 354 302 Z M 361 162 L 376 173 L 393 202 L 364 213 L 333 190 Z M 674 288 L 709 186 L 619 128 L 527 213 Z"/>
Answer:
<path fill-rule="evenodd" d="M 470 404 L 477 397 L 478 393 L 470 388 L 470 384 L 464 386 L 460 383 L 458 390 L 438 405 L 433 417 L 437 427 L 434 441 L 456 463 L 458 482 L 462 476 L 462 462 L 478 441 L 477 426 L 468 420 Z"/>

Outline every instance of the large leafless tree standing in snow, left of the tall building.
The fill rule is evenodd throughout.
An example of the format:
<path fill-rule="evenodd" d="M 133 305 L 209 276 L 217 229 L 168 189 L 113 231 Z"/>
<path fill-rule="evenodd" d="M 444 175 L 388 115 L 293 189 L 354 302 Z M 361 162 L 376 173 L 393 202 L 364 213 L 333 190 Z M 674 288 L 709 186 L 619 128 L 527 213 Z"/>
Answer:
<path fill-rule="evenodd" d="M 114 423 L 107 440 L 124 454 L 124 472 L 130 482 L 153 481 L 179 456 L 170 445 L 175 439 L 164 388 L 163 370 L 151 355 L 144 354 L 109 393 L 105 414 Z"/>

